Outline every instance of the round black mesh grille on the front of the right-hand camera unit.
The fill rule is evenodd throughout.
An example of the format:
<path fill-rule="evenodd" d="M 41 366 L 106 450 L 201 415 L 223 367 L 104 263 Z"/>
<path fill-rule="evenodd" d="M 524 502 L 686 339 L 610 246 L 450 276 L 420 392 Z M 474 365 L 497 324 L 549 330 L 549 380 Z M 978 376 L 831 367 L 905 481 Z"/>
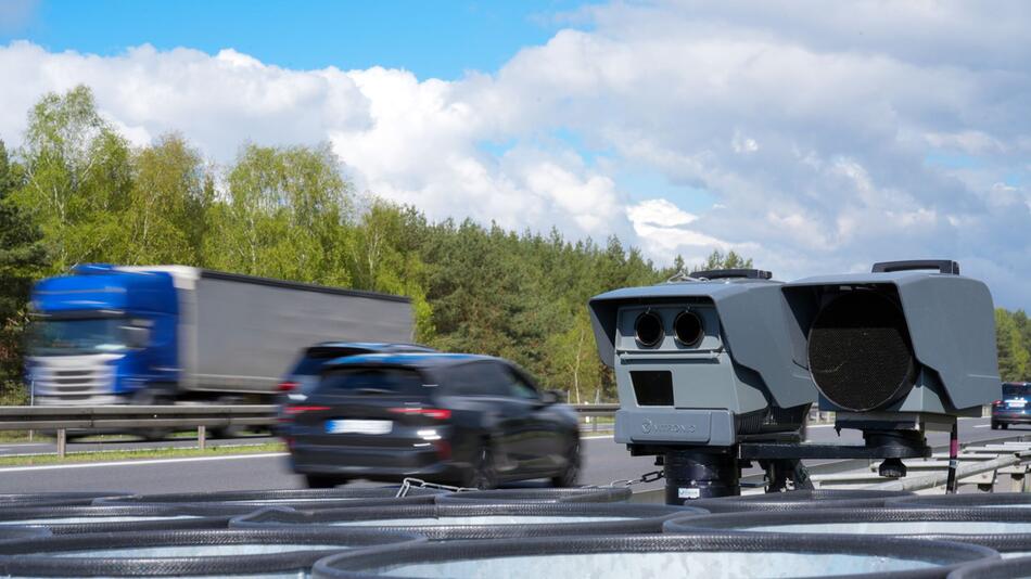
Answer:
<path fill-rule="evenodd" d="M 819 391 L 855 412 L 894 402 L 916 375 L 905 316 L 875 291 L 842 294 L 820 310 L 810 330 L 809 362 Z"/>

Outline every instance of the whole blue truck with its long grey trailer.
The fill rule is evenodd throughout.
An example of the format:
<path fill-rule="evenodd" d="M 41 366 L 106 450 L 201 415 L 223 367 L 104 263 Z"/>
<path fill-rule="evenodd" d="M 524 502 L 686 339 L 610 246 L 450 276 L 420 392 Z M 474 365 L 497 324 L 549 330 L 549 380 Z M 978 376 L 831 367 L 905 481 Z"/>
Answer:
<path fill-rule="evenodd" d="M 297 350 L 411 339 L 408 298 L 188 266 L 75 267 L 33 291 L 41 404 L 270 402 Z"/>

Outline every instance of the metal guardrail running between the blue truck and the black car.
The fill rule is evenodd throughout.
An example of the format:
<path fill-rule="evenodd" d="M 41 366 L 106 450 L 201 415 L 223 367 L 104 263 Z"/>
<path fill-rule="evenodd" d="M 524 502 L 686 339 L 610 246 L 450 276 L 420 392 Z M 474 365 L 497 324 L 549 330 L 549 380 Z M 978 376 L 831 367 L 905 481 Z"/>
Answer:
<path fill-rule="evenodd" d="M 620 404 L 570 404 L 582 416 L 607 416 Z M 272 426 L 276 404 L 246 406 L 40 406 L 0 407 L 0 430 L 55 430 L 58 455 L 67 453 L 67 430 L 196 428 L 198 446 L 207 446 L 207 428 Z"/>

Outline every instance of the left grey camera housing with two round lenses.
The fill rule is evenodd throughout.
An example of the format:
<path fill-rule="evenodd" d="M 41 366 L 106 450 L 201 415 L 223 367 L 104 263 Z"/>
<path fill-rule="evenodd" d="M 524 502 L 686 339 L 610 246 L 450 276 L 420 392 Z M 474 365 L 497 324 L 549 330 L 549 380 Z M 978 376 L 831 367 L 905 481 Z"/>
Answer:
<path fill-rule="evenodd" d="M 790 363 L 781 286 L 765 271 L 715 270 L 591 298 L 619 390 L 615 441 L 660 454 L 799 430 L 816 388 Z"/>

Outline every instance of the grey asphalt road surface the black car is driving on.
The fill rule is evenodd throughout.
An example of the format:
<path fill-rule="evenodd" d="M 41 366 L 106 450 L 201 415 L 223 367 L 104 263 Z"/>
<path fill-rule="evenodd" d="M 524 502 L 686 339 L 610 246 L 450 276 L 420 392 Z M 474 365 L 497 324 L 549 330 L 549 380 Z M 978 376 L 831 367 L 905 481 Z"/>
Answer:
<path fill-rule="evenodd" d="M 988 419 L 959 422 L 963 442 L 998 438 L 1011 434 L 1031 434 L 1031 429 L 992 430 Z M 932 446 L 947 443 L 947 436 L 933 433 Z M 857 433 L 845 432 L 840 438 L 829 426 L 811 427 L 809 439 L 822 442 L 858 442 Z M 250 441 L 254 441 L 251 439 Z M 189 445 L 190 441 L 178 443 Z M 124 443 L 123 443 L 124 445 Z M 105 445 L 107 446 L 107 445 Z M 21 452 L 23 445 L 3 448 Z M 584 440 L 582 483 L 604 485 L 616 479 L 636 478 L 654 471 L 654 459 L 631 456 L 611 437 Z M 358 483 L 361 484 L 361 483 Z M 533 483 L 531 483 L 533 485 Z M 290 472 L 282 454 L 204 456 L 189 459 L 140 460 L 120 463 L 89 463 L 51 466 L 0 467 L 0 493 L 47 491 L 119 491 L 133 493 L 200 492 L 216 490 L 302 488 L 304 481 Z M 640 485 L 635 490 L 661 488 L 662 483 Z"/>

